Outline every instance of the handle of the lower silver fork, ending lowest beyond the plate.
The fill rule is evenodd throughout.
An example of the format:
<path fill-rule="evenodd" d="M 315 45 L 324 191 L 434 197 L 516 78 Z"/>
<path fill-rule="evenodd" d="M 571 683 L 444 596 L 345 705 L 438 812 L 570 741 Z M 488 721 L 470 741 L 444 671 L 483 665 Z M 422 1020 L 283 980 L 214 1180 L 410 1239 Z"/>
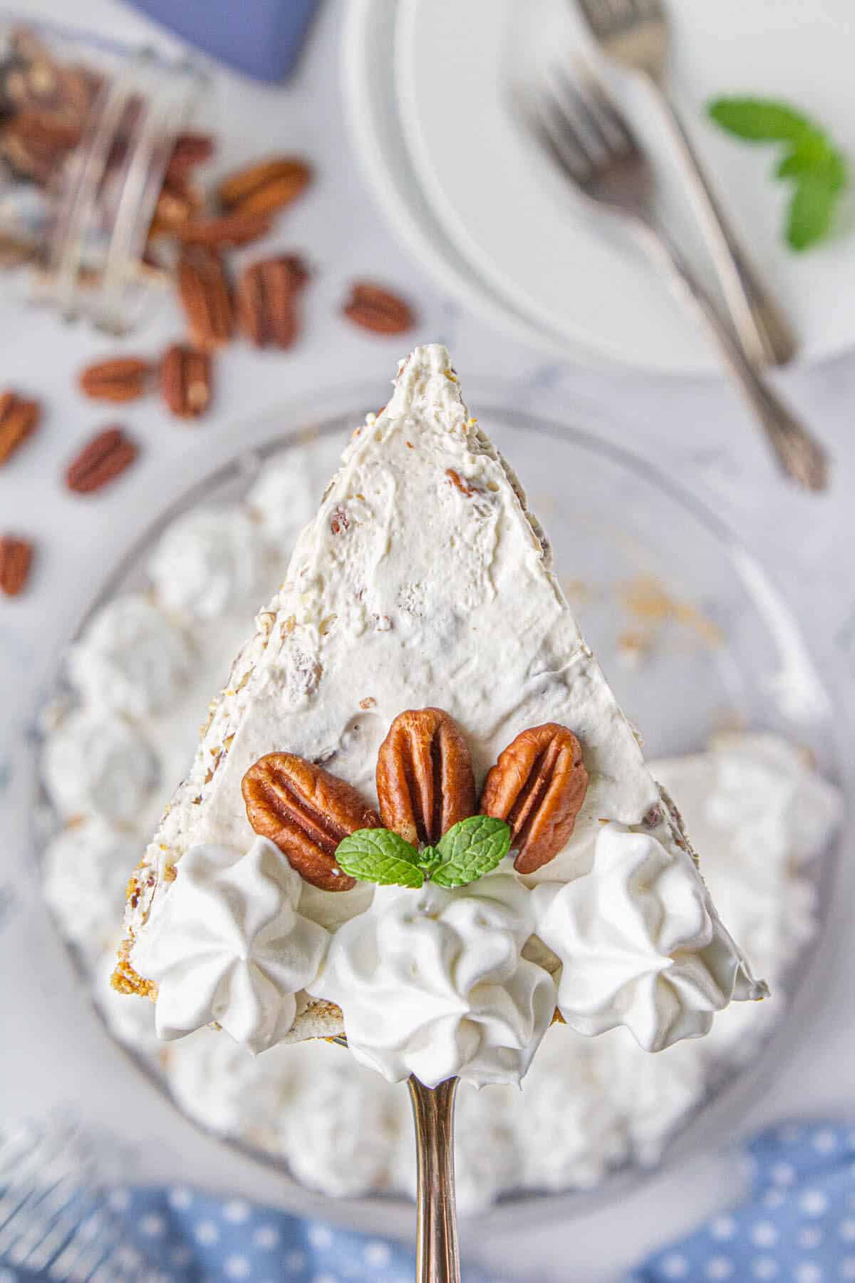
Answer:
<path fill-rule="evenodd" d="M 728 322 L 695 276 L 677 245 L 660 227 L 642 223 L 650 246 L 665 260 L 668 280 L 681 299 L 693 308 L 717 340 L 733 382 L 763 427 L 781 468 L 808 490 L 828 485 L 828 457 L 805 425 L 758 373 Z"/>

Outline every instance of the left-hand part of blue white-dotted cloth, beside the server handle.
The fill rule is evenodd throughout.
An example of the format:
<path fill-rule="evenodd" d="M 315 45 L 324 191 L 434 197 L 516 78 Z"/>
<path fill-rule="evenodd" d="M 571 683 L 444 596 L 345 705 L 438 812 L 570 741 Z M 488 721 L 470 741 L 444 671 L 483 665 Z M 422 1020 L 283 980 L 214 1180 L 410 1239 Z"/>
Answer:
<path fill-rule="evenodd" d="M 396 1242 L 335 1229 L 183 1185 L 113 1189 L 108 1206 L 124 1227 L 117 1265 L 159 1283 L 413 1283 L 415 1261 Z M 9 1266 L 0 1283 L 55 1283 Z M 464 1283 L 496 1283 L 478 1270 Z"/>

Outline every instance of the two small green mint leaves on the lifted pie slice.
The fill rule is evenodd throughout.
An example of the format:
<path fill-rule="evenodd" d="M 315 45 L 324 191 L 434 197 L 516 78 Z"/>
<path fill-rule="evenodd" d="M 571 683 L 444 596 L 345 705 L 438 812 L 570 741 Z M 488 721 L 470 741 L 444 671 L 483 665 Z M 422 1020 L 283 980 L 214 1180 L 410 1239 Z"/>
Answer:
<path fill-rule="evenodd" d="M 436 847 L 422 851 L 390 829 L 358 829 L 338 843 L 336 860 L 359 881 L 418 889 L 431 880 L 452 888 L 491 872 L 509 849 L 510 828 L 504 820 L 473 815 L 452 825 Z"/>

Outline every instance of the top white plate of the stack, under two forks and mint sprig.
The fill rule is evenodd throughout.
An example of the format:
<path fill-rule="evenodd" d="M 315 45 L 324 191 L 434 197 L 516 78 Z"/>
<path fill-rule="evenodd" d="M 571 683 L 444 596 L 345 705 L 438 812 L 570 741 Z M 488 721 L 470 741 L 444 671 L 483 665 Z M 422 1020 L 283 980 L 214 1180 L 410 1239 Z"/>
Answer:
<path fill-rule="evenodd" d="M 567 0 L 399 0 L 395 27 L 394 65 L 374 65 L 381 89 L 372 85 L 370 92 L 385 86 L 386 100 L 400 104 L 420 196 L 469 269 L 531 325 L 576 350 L 647 370 L 714 371 L 713 346 L 686 323 L 658 268 L 622 231 L 604 235 L 514 118 L 515 96 L 540 83 L 545 67 L 572 69 L 574 54 L 588 47 Z M 840 237 L 792 254 L 781 237 L 788 189 L 769 178 L 776 149 L 728 139 L 704 110 L 727 92 L 784 98 L 851 150 L 850 6 L 722 0 L 711 9 L 708 0 L 682 0 L 672 6 L 672 33 L 669 83 L 683 119 L 763 278 L 774 282 L 801 359 L 851 345 L 851 317 L 837 305 L 855 271 L 851 245 Z M 613 82 L 659 162 L 664 217 L 696 245 L 655 103 L 626 77 Z M 410 190 L 409 205 L 418 200 Z M 440 253 L 450 259 L 447 249 Z M 714 287 L 711 273 L 704 275 Z"/>

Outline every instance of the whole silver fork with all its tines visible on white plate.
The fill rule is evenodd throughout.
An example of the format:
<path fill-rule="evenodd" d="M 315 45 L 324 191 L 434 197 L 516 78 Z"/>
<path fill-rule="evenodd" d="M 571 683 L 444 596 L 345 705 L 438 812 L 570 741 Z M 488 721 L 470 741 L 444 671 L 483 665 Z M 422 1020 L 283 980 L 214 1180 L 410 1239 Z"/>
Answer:
<path fill-rule="evenodd" d="M 652 167 L 604 86 L 588 74 L 578 83 L 554 77 L 524 110 L 529 127 L 577 190 L 597 209 L 605 208 L 622 219 L 664 264 L 677 295 L 717 340 L 728 372 L 783 471 L 809 490 L 823 490 L 828 482 L 826 452 L 760 377 L 661 226 L 652 200 Z"/>

